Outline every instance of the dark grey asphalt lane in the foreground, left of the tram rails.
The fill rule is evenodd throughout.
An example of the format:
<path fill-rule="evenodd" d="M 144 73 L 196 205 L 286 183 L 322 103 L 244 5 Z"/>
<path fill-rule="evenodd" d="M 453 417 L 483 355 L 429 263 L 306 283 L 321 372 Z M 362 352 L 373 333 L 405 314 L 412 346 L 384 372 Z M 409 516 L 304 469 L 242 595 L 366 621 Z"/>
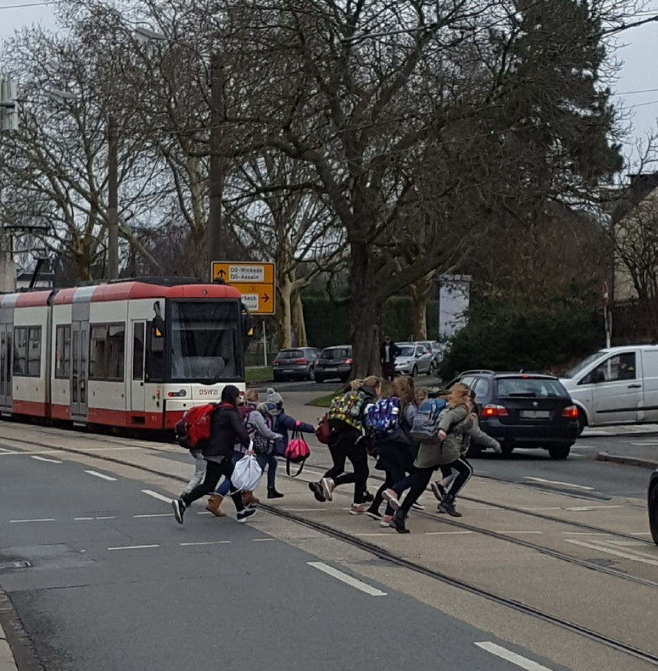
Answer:
<path fill-rule="evenodd" d="M 195 505 L 181 527 L 152 487 L 57 455 L 0 456 L 0 587 L 46 671 L 519 669 L 475 645 L 503 645 L 490 634 L 311 565 L 262 511 L 240 525 Z"/>

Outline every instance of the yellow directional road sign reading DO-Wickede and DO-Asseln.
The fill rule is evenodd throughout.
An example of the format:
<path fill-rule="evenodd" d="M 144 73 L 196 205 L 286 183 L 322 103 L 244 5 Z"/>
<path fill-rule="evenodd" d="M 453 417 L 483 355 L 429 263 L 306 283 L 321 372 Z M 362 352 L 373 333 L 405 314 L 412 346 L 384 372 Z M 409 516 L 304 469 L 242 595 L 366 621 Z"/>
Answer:
<path fill-rule="evenodd" d="M 235 286 L 250 313 L 275 313 L 275 264 L 213 261 L 212 279 Z"/>

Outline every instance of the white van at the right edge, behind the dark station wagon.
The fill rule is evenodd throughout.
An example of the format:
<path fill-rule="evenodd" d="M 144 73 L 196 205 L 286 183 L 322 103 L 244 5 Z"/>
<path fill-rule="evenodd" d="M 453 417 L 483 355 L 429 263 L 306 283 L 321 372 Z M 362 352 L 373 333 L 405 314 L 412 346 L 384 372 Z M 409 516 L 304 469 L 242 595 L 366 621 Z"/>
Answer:
<path fill-rule="evenodd" d="M 658 345 L 601 349 L 560 382 L 578 406 L 581 427 L 658 422 Z"/>

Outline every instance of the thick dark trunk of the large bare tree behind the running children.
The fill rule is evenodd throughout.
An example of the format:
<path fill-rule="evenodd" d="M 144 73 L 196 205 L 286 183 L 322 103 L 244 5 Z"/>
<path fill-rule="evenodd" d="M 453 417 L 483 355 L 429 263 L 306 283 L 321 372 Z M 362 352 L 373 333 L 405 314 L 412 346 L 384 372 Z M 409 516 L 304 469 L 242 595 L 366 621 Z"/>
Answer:
<path fill-rule="evenodd" d="M 372 245 L 367 242 L 352 242 L 351 278 L 352 286 L 352 379 L 363 379 L 369 375 L 381 375 L 379 364 L 378 315 L 381 305 L 375 304 L 370 269 Z"/>

